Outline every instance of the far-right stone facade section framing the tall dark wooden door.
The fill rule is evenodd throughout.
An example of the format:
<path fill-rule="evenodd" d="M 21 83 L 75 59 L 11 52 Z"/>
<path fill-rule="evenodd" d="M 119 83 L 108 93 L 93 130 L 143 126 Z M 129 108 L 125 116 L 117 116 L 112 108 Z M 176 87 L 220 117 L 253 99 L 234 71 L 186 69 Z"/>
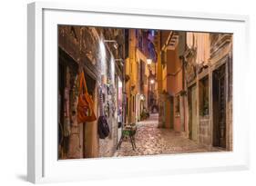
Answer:
<path fill-rule="evenodd" d="M 212 145 L 232 150 L 232 34 L 210 34 Z"/>

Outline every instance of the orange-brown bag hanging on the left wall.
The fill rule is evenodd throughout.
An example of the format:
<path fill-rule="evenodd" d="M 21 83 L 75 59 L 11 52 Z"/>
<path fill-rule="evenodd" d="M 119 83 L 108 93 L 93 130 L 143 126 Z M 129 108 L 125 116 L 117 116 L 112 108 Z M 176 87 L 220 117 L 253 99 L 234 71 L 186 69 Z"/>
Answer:
<path fill-rule="evenodd" d="M 93 111 L 93 100 L 87 92 L 87 82 L 84 72 L 80 73 L 79 81 L 79 97 L 77 104 L 77 122 L 93 122 L 96 121 L 96 115 Z"/>

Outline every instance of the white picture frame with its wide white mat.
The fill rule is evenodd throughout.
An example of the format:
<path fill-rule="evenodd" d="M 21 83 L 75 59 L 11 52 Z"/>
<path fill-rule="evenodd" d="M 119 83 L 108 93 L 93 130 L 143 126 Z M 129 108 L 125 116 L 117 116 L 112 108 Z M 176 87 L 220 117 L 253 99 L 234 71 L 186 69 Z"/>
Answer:
<path fill-rule="evenodd" d="M 248 105 L 241 99 L 247 94 L 243 91 L 244 79 L 239 76 L 245 72 L 242 62 L 248 61 L 248 16 L 42 2 L 29 4 L 27 10 L 28 181 L 87 181 L 249 169 L 249 122 L 245 119 Z M 233 33 L 233 151 L 58 161 L 54 122 L 57 24 Z"/>

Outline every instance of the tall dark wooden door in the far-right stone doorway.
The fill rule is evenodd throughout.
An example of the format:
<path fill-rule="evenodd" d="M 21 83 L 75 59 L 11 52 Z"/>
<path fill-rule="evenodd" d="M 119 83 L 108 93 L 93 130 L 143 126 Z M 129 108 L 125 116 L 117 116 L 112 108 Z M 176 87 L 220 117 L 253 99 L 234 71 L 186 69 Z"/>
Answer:
<path fill-rule="evenodd" d="M 213 146 L 226 147 L 225 64 L 212 75 Z"/>

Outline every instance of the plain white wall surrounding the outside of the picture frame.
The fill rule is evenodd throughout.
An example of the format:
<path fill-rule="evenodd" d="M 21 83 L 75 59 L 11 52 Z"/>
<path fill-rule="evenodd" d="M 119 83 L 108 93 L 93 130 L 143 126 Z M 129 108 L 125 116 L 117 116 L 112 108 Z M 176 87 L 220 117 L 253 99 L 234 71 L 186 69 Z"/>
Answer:
<path fill-rule="evenodd" d="M 75 2 L 76 0 L 72 0 Z M 28 185 L 26 182 L 26 0 L 5 0 L 0 6 L 0 185 Z M 183 11 L 199 11 L 224 14 L 250 15 L 251 17 L 251 61 L 248 73 L 256 71 L 256 12 L 251 0 L 85 0 L 93 5 L 129 6 L 153 9 L 174 9 Z M 124 3 L 126 2 L 126 3 Z M 134 3 L 134 4 L 133 4 Z M 159 3 L 159 5 L 157 5 Z M 135 5 L 136 4 L 136 5 Z M 256 83 L 251 74 L 251 171 L 229 171 L 217 173 L 171 175 L 155 178 L 134 178 L 118 181 L 77 182 L 72 185 L 255 185 L 255 119 L 252 118 L 256 105 Z M 255 79 L 255 78 L 254 78 Z M 249 83 L 248 83 L 249 84 Z M 254 98 L 252 97 L 254 96 Z M 253 110 L 254 109 L 254 110 Z M 253 135 L 252 135 L 253 134 Z M 254 184 L 253 184 L 254 183 Z M 71 183 L 62 183 L 71 185 Z"/>

